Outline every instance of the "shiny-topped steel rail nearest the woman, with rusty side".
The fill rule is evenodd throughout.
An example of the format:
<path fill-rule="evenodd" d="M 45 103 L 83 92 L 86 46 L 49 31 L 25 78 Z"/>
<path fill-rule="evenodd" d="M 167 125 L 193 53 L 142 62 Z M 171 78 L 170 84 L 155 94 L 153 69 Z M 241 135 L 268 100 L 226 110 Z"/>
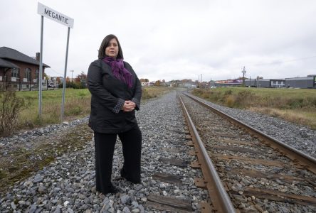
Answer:
<path fill-rule="evenodd" d="M 198 155 L 199 163 L 201 163 L 202 173 L 204 174 L 204 180 L 206 181 L 206 187 L 209 191 L 214 208 L 218 212 L 236 212 L 236 209 L 233 207 L 231 199 L 229 198 L 225 188 L 223 187 L 221 179 L 216 172 L 215 166 L 209 158 L 209 153 L 206 151 L 204 143 L 201 141 L 199 133 L 196 130 L 193 121 L 189 116 L 189 112 L 186 110 L 184 102 L 182 101 L 179 94 L 178 97 L 181 102 L 181 107 L 184 111 L 184 116 L 186 117 L 186 122 L 189 126 L 190 133 L 193 137 L 192 140 L 198 145 L 196 146 L 199 149 L 197 152 L 201 153 L 201 155 Z"/>

